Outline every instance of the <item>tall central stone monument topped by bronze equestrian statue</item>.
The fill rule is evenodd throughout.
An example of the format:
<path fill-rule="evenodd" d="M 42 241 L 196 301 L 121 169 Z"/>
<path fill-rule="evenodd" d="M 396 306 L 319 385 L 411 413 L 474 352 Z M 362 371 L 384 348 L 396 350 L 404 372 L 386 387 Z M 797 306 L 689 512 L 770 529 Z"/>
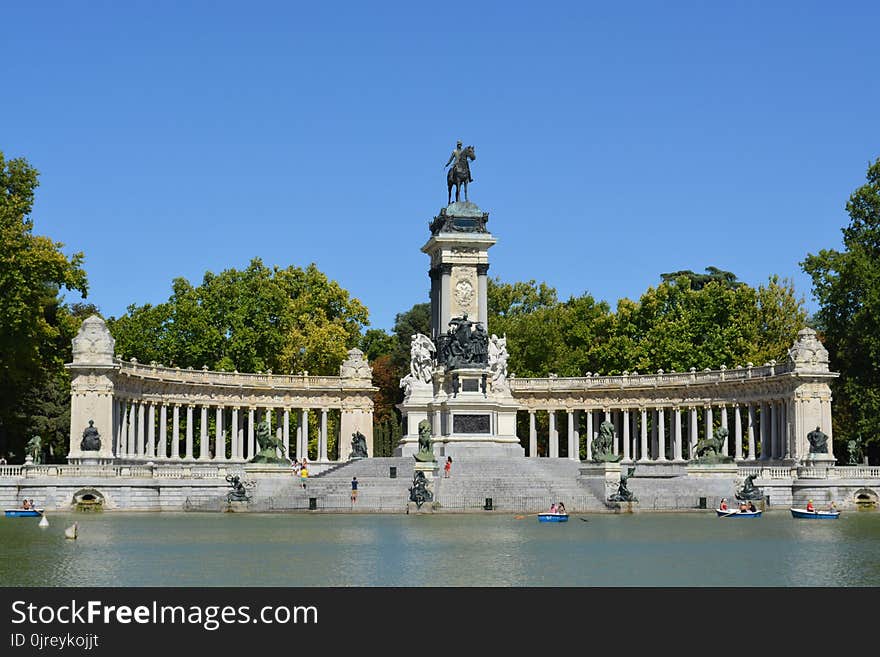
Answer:
<path fill-rule="evenodd" d="M 507 385 L 506 339 L 489 334 L 489 248 L 497 241 L 489 213 L 467 198 L 474 147 L 452 152 L 448 205 L 429 222 L 422 252 L 430 258 L 431 335 L 412 336 L 410 373 L 399 409 L 400 455 L 418 450 L 419 423 L 431 425 L 438 456 L 510 455 L 525 451 L 516 436 L 517 403 Z M 455 186 L 455 201 L 452 187 Z M 460 190 L 463 187 L 464 199 Z"/>

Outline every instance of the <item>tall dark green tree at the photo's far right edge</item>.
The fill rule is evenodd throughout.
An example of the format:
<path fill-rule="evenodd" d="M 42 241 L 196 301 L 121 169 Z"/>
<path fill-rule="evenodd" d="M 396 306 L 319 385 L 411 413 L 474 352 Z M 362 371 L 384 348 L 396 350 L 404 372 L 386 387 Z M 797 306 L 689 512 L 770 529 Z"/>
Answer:
<path fill-rule="evenodd" d="M 819 302 L 814 321 L 832 369 L 835 441 L 880 442 L 880 158 L 846 203 L 843 251 L 823 249 L 801 263 Z"/>

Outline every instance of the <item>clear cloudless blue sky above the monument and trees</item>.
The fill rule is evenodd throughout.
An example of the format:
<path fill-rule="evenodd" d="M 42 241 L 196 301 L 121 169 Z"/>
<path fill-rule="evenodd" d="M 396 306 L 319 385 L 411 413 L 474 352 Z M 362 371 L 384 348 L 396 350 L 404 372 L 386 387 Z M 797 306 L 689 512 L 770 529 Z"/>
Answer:
<path fill-rule="evenodd" d="M 259 256 L 390 329 L 428 300 L 457 139 L 491 275 L 614 306 L 714 265 L 813 311 L 799 263 L 880 156 L 878 25 L 876 1 L 10 2 L 0 150 L 107 316 Z"/>

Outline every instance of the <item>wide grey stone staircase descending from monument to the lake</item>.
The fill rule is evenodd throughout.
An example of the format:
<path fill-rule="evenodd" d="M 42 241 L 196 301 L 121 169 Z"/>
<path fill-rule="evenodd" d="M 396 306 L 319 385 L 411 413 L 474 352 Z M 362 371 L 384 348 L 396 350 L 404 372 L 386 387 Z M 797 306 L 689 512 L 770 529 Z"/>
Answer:
<path fill-rule="evenodd" d="M 303 490 L 299 478 L 276 482 L 261 480 L 249 505 L 252 511 L 310 510 L 336 512 L 406 512 L 412 485 L 411 456 L 351 461 L 309 477 Z M 484 510 L 491 498 L 492 510 L 536 513 L 552 502 L 562 501 L 569 512 L 607 510 L 604 502 L 578 482 L 580 463 L 567 459 L 526 457 L 474 457 L 452 464 L 451 476 L 443 478 L 438 462 L 434 500 L 438 512 Z M 396 478 L 391 478 L 391 468 Z M 351 502 L 351 479 L 358 478 L 358 499 Z"/>

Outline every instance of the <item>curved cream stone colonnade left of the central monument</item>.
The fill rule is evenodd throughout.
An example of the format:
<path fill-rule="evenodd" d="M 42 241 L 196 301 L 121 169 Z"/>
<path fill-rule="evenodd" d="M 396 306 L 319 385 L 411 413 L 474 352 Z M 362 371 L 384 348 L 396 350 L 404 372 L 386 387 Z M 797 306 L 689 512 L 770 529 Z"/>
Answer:
<path fill-rule="evenodd" d="M 268 422 L 290 458 L 346 460 L 359 431 L 372 453 L 372 370 L 358 349 L 339 376 L 217 372 L 144 365 L 113 354 L 103 320 L 83 322 L 73 341 L 68 460 L 100 462 L 246 462 L 260 450 L 257 426 Z M 81 449 L 93 420 L 97 452 Z M 331 429 L 332 427 L 332 429 Z M 332 431 L 332 433 L 331 433 Z M 317 449 L 309 452 L 309 437 Z M 330 453 L 335 438 L 337 450 Z"/>

